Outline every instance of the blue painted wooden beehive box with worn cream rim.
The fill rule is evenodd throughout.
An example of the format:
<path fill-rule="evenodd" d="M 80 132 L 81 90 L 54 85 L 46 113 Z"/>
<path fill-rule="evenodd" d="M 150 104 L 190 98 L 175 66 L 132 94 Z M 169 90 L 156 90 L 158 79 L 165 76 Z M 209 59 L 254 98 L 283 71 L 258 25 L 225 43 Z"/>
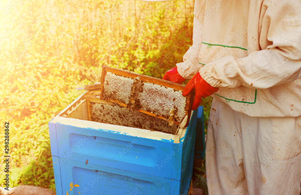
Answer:
<path fill-rule="evenodd" d="M 66 194 L 66 190 L 69 194 L 106 194 L 106 190 L 114 191 L 110 194 L 132 190 L 135 194 L 138 184 L 147 189 L 144 192 L 138 188 L 138 194 L 179 194 L 188 190 L 197 112 L 192 113 L 190 125 L 179 128 L 176 135 L 60 116 L 76 110 L 74 117 L 88 117 L 88 100 L 81 102 L 86 93 L 49 122 L 57 194 Z M 89 183 L 85 175 L 112 186 L 98 183 L 91 187 L 93 182 Z M 82 187 L 69 191 L 71 182 Z"/>

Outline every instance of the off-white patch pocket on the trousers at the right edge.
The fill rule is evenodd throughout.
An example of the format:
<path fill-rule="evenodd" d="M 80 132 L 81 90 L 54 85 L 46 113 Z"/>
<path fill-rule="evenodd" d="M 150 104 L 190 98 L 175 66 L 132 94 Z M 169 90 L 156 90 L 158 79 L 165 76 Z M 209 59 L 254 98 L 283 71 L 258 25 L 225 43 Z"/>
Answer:
<path fill-rule="evenodd" d="M 296 118 L 273 118 L 272 157 L 286 160 L 301 153 L 301 116 Z"/>

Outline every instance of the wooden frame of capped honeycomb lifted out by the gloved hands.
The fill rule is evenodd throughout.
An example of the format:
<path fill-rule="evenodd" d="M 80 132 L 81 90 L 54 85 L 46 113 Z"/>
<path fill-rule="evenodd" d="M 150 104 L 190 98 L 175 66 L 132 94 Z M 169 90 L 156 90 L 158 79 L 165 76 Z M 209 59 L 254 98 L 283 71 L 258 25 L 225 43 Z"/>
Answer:
<path fill-rule="evenodd" d="M 103 66 L 100 99 L 163 120 L 189 124 L 194 92 L 183 97 L 185 85 Z"/>

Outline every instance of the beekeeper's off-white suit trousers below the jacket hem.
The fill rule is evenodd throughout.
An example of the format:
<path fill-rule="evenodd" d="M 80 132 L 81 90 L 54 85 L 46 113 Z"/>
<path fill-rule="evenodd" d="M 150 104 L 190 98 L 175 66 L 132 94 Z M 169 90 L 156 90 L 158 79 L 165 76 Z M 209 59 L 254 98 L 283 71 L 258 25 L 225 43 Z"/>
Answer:
<path fill-rule="evenodd" d="M 299 195 L 300 125 L 300 116 L 251 117 L 213 99 L 206 141 L 209 195 Z"/>

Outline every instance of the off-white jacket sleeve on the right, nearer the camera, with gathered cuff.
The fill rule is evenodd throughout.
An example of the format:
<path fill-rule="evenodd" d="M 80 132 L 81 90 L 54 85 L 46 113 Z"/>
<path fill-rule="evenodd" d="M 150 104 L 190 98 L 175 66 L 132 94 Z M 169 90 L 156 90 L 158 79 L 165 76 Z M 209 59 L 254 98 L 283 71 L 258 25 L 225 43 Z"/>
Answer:
<path fill-rule="evenodd" d="M 267 8 L 262 29 L 272 44 L 247 57 L 225 56 L 199 70 L 213 87 L 269 88 L 301 76 L 301 1 L 277 1 Z"/>

